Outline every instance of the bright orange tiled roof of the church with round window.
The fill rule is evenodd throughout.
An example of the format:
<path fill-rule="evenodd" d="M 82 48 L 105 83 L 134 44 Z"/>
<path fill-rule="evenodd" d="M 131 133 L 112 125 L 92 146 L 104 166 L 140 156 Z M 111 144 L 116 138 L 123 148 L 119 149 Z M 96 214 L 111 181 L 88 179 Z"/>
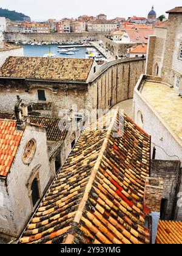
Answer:
<path fill-rule="evenodd" d="M 0 119 L 0 176 L 6 177 L 10 171 L 22 134 L 15 121 Z"/>

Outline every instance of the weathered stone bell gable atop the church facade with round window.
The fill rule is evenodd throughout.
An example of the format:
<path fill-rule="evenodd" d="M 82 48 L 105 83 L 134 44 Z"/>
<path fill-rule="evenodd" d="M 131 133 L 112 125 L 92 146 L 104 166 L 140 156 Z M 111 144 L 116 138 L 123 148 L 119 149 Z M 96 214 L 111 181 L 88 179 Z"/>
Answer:
<path fill-rule="evenodd" d="M 30 123 L 28 104 L 19 97 L 16 96 L 17 101 L 15 104 L 15 116 L 16 116 L 16 128 L 18 130 L 24 130 L 27 123 Z"/>

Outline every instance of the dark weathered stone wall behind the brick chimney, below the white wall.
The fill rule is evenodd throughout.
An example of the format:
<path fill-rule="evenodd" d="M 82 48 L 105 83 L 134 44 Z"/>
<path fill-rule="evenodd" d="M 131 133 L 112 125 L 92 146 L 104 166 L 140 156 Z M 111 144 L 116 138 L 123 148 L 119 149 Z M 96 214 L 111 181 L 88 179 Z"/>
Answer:
<path fill-rule="evenodd" d="M 171 219 L 174 206 L 175 191 L 178 181 L 179 162 L 170 160 L 152 160 L 151 177 L 163 178 L 163 199 L 166 199 L 166 209 L 163 219 Z"/>

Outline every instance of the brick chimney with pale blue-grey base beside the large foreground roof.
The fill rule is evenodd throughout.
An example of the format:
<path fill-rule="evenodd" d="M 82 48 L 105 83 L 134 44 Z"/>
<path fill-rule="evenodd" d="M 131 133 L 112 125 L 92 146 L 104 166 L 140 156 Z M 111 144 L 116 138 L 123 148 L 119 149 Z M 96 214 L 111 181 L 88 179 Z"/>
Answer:
<path fill-rule="evenodd" d="M 164 183 L 161 178 L 146 178 L 144 191 L 144 212 L 152 217 L 152 244 L 155 244 Z"/>

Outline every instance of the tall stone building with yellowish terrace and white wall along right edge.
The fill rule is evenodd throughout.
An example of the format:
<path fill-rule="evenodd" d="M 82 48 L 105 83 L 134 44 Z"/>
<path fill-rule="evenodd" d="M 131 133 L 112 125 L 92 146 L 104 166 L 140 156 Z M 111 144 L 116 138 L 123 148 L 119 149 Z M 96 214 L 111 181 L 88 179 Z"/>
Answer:
<path fill-rule="evenodd" d="M 133 97 L 135 122 L 152 135 L 152 158 L 162 160 L 155 169 L 163 169 L 171 179 L 164 180 L 166 190 L 163 197 L 168 219 L 182 219 L 178 207 L 179 193 L 182 191 L 179 168 L 182 162 L 181 135 L 181 21 L 182 7 L 169 10 L 169 20 L 155 27 L 149 38 L 146 74 L 136 84 Z M 153 129 L 155 124 L 155 129 Z M 175 168 L 167 171 L 167 164 L 173 161 Z M 177 162 L 177 163 L 176 163 Z M 163 171 L 157 172 L 161 177 Z M 167 175 L 167 174 L 166 174 Z M 174 176 L 174 177 L 172 177 Z M 171 194 L 174 194 L 172 197 Z M 166 218 L 165 218 L 166 219 Z"/>

